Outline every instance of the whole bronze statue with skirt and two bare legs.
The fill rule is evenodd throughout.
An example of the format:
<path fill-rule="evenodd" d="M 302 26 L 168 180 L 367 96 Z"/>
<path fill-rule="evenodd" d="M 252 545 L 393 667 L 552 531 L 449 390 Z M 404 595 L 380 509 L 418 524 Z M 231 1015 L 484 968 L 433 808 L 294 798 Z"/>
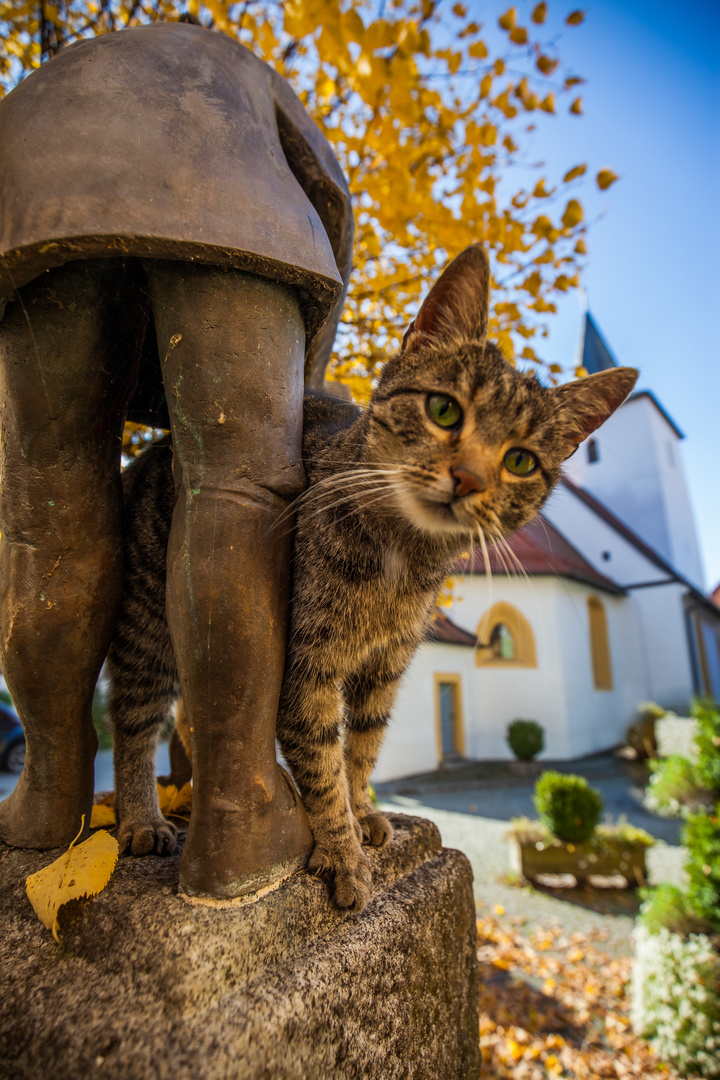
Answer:
<path fill-rule="evenodd" d="M 158 24 L 63 50 L 0 104 L 0 665 L 27 739 L 0 838 L 87 822 L 122 582 L 125 418 L 173 432 L 167 615 L 193 737 L 188 894 L 300 865 L 275 761 L 302 392 L 347 291 L 348 187 L 289 86 Z M 303 379 L 304 372 L 304 379 Z"/>

